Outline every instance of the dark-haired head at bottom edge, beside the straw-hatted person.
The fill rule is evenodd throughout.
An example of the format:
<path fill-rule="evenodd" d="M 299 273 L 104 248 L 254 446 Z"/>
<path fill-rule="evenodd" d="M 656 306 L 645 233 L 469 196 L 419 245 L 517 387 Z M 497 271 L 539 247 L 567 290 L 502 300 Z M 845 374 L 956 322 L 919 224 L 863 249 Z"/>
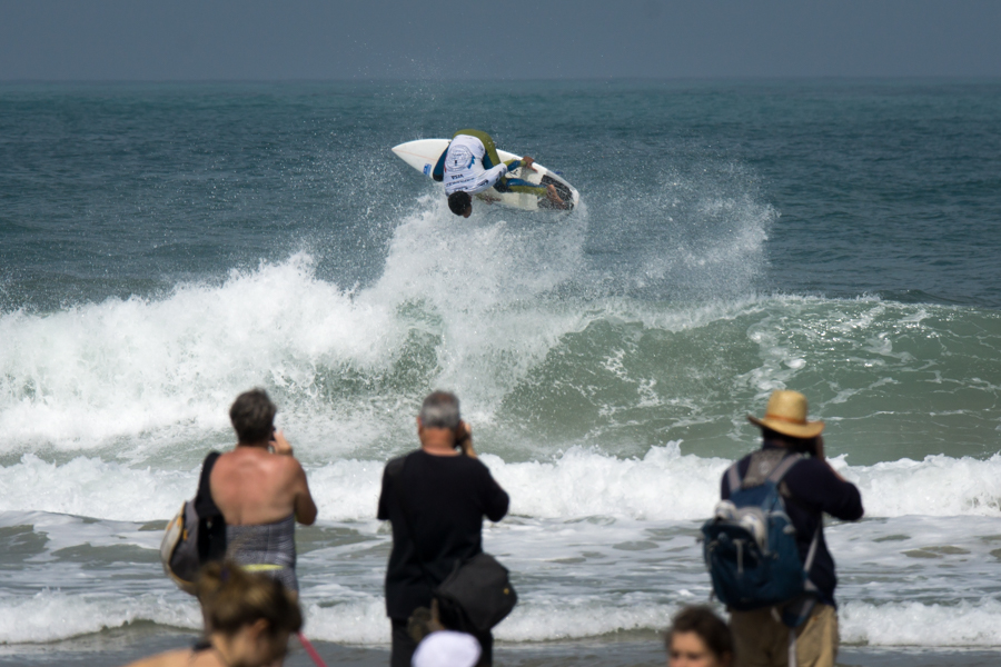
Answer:
<path fill-rule="evenodd" d="M 664 634 L 667 667 L 731 667 L 733 636 L 708 607 L 685 607 Z"/>

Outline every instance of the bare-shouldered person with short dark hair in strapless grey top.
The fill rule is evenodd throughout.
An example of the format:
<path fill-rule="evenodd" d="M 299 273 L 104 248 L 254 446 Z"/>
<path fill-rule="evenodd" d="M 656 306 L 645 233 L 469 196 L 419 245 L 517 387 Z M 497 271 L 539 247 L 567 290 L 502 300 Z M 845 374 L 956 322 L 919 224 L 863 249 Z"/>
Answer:
<path fill-rule="evenodd" d="M 227 555 L 298 593 L 296 521 L 311 525 L 316 504 L 291 445 L 275 430 L 276 412 L 262 389 L 237 397 L 229 410 L 237 446 L 215 459 L 209 490 L 226 521 Z"/>

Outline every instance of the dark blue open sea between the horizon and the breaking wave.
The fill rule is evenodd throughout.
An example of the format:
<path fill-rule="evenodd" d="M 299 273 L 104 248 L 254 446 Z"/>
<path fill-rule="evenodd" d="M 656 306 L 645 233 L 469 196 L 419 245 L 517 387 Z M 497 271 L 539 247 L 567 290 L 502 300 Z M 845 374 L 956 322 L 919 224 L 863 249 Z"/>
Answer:
<path fill-rule="evenodd" d="M 997 82 L 7 86 L 0 103 L 12 306 L 304 247 L 369 283 L 430 191 L 387 147 L 463 123 L 589 195 L 586 260 L 623 289 L 640 258 L 720 238 L 734 216 L 700 206 L 716 197 L 773 209 L 756 281 L 730 292 L 1001 305 Z"/>

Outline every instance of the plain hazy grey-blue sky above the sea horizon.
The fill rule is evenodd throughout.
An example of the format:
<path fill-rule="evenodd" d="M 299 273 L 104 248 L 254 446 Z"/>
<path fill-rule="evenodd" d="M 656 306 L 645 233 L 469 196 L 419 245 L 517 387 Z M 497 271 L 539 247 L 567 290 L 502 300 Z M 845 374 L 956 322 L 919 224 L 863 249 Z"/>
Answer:
<path fill-rule="evenodd" d="M 999 0 L 0 0 L 0 81 L 1001 77 Z"/>

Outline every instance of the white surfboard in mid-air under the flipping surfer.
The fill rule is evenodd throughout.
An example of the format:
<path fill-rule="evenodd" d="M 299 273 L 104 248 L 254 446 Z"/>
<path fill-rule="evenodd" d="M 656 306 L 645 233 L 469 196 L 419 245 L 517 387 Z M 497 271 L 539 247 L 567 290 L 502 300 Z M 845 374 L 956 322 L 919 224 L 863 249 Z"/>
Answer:
<path fill-rule="evenodd" d="M 400 160 L 417 171 L 420 171 L 427 178 L 432 178 L 432 170 L 435 168 L 438 158 L 442 157 L 442 153 L 445 152 L 445 149 L 448 148 L 449 143 L 452 143 L 450 139 L 417 139 L 416 141 L 407 141 L 406 143 L 394 146 L 393 152 L 396 153 L 396 157 Z M 516 156 L 506 150 L 500 150 L 499 148 L 497 149 L 497 156 L 505 162 L 507 160 L 522 159 L 522 156 Z M 539 198 L 528 192 L 498 192 L 493 188 L 479 192 L 474 197 L 488 203 L 496 203 L 526 211 L 573 210 L 573 208 L 581 202 L 581 193 L 577 192 L 576 188 L 566 182 L 566 179 L 564 179 L 563 176 L 546 169 L 538 162 L 535 162 L 532 166 L 532 169 L 525 167 L 515 169 L 511 176 L 536 186 L 553 183 L 556 191 L 559 193 L 559 198 L 569 203 L 569 207 L 566 209 L 555 209 L 554 207 L 548 206 L 549 201 L 545 197 Z"/>

